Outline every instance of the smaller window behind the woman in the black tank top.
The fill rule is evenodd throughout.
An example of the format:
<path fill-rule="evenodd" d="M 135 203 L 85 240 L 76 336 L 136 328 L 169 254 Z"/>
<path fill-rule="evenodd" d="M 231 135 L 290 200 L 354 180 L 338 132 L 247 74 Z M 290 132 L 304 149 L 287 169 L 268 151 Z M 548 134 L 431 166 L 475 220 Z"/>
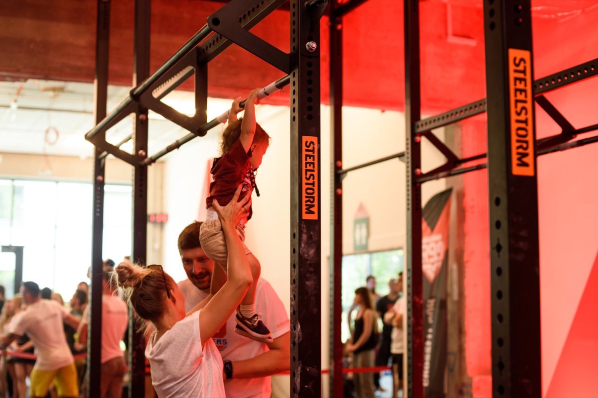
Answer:
<path fill-rule="evenodd" d="M 343 320 L 341 323 L 341 339 L 349 340 L 349 324 L 347 311 L 353 304 L 355 289 L 365 286 L 365 279 L 369 275 L 376 277 L 376 293 L 380 297 L 389 292 L 388 282 L 395 279 L 399 271 L 403 270 L 403 249 L 370 252 L 362 254 L 349 254 L 343 256 Z M 375 305 L 375 303 L 374 303 Z M 382 324 L 379 325 L 382 330 Z"/>

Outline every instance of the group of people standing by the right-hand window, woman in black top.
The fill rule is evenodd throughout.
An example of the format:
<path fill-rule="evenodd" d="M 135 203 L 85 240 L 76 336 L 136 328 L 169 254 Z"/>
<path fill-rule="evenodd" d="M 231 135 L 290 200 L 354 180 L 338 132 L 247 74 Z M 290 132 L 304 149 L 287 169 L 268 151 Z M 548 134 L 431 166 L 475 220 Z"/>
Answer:
<path fill-rule="evenodd" d="M 380 372 L 362 372 L 357 369 L 392 365 L 392 397 L 402 395 L 403 333 L 402 322 L 405 302 L 402 298 L 402 273 L 388 282 L 389 293 L 376 294 L 376 278 L 368 276 L 366 285 L 355 290 L 355 299 L 349 308 L 347 320 L 351 339 L 344 347 L 350 355 L 353 372 L 347 383 L 345 396 L 373 398 L 376 390 L 385 391 L 380 385 Z M 353 311 L 357 310 L 355 319 Z M 382 321 L 379 330 L 378 319 Z"/>

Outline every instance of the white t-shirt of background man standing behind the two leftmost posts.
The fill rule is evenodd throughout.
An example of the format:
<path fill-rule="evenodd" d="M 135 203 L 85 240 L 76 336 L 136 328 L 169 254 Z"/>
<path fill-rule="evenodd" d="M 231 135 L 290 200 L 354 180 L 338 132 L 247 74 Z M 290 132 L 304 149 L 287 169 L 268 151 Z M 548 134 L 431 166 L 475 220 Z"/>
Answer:
<path fill-rule="evenodd" d="M 83 311 L 81 323 L 89 324 L 89 306 Z M 116 295 L 102 294 L 102 363 L 122 357 L 120 341 L 129 325 L 129 307 Z"/>

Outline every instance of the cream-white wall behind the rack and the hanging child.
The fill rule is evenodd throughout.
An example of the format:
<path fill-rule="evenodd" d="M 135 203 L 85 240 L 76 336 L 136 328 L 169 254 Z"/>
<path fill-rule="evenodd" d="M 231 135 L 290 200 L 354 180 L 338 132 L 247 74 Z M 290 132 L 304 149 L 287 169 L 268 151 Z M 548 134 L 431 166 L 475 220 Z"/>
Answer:
<path fill-rule="evenodd" d="M 258 106 L 257 120 L 269 132 L 272 142 L 256 181 L 261 196 L 253 198 L 254 218 L 246 227 L 246 244 L 262 265 L 262 277 L 276 289 L 289 308 L 290 265 L 290 140 L 288 107 Z M 328 369 L 328 256 L 330 233 L 330 134 L 329 108 L 322 106 L 321 132 L 321 221 L 322 221 L 322 368 Z M 404 116 L 398 112 L 345 107 L 343 109 L 343 168 L 382 158 L 404 150 Z M 208 136 L 185 144 L 167 159 L 164 197 L 169 222 L 164 242 L 164 266 L 175 280 L 185 277 L 180 265 L 176 239 L 194 220 L 208 159 L 217 155 L 220 128 Z M 442 139 L 443 134 L 438 134 Z M 423 170 L 437 166 L 443 157 L 423 142 Z M 422 205 L 445 187 L 444 181 L 422 186 Z M 405 165 L 393 159 L 347 175 L 343 181 L 343 250 L 353 250 L 353 217 L 363 202 L 370 215 L 370 249 L 404 247 Z M 364 281 L 365 282 L 365 281 Z M 286 378 L 288 386 L 288 378 Z M 324 386 L 327 394 L 327 386 Z"/>

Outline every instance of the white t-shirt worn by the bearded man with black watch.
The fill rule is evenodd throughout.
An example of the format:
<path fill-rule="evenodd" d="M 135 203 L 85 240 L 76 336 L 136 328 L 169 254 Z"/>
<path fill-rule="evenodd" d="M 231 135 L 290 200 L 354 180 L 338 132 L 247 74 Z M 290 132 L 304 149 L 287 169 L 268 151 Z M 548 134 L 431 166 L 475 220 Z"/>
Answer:
<path fill-rule="evenodd" d="M 196 290 L 198 289 L 196 288 Z M 199 301 L 197 303 L 189 301 L 191 308 L 199 303 Z M 187 306 L 187 302 L 187 295 L 185 295 L 185 307 Z M 255 309 L 260 314 L 264 325 L 270 329 L 270 336 L 273 339 L 290 331 L 291 324 L 289 323 L 285 306 L 270 283 L 263 278 L 258 279 L 255 292 Z M 234 328 L 237 326 L 237 322 L 234 320 L 235 314 L 233 313 L 228 318 L 226 324 L 212 337 L 222 355 L 222 359 L 231 361 L 251 359 L 268 351 L 267 344 L 243 337 L 234 332 Z M 269 376 L 253 379 L 236 379 L 234 378 L 234 367 L 233 378 L 224 381 L 224 388 L 228 398 L 269 397 L 272 389 Z"/>

